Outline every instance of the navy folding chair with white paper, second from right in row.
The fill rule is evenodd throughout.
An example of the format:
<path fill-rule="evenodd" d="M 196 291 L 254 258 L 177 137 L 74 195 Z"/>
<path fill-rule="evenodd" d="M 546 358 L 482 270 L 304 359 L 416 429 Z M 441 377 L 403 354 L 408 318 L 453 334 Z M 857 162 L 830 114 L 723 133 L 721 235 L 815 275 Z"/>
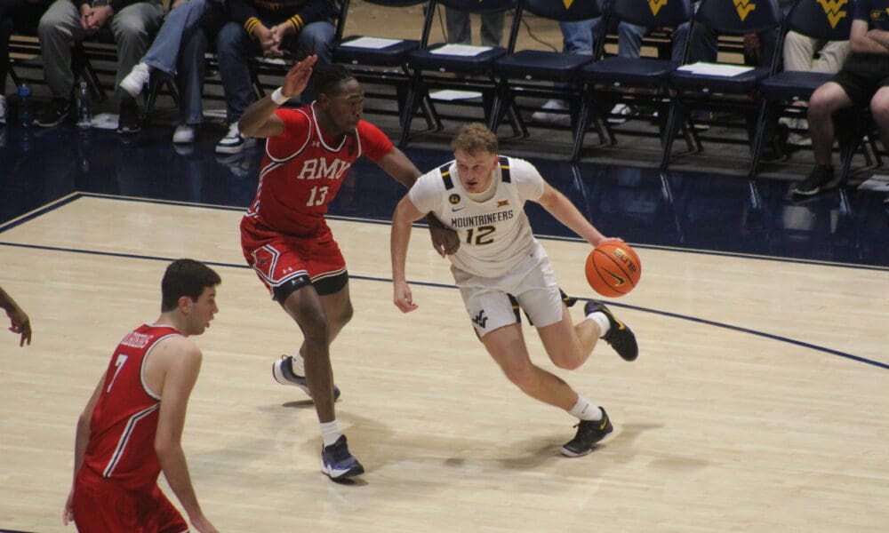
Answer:
<path fill-rule="evenodd" d="M 780 33 L 781 9 L 776 0 L 757 0 L 756 3 L 736 0 L 702 0 L 694 13 L 688 35 L 694 35 L 696 25 L 702 24 L 717 35 L 760 34 L 766 31 Z M 690 37 L 691 38 L 691 37 Z M 740 73 L 722 73 L 711 70 L 698 71 L 686 65 L 690 47 L 686 47 L 684 66 L 669 75 L 669 90 L 675 92 L 669 107 L 667 139 L 661 156 L 661 169 L 669 165 L 670 151 L 677 132 L 677 120 L 685 123 L 688 109 L 705 108 L 757 116 L 765 107 L 765 99 L 757 94 L 759 83 L 774 74 L 781 53 L 782 35 L 765 67 L 749 68 Z M 726 68 L 725 63 L 719 63 Z M 755 120 L 755 119 L 753 119 Z M 749 135 L 749 133 L 748 133 Z M 750 144 L 753 139 L 749 139 Z M 700 147 L 699 147 L 700 149 Z"/>

